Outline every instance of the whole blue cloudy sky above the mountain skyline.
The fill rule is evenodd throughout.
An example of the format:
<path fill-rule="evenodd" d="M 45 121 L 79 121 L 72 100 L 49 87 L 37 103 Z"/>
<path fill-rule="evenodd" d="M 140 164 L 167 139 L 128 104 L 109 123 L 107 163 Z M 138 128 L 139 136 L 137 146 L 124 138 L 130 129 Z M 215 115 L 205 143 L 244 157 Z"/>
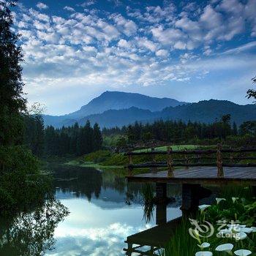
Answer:
<path fill-rule="evenodd" d="M 53 115 L 104 91 L 249 104 L 256 0 L 20 0 L 24 91 Z"/>

